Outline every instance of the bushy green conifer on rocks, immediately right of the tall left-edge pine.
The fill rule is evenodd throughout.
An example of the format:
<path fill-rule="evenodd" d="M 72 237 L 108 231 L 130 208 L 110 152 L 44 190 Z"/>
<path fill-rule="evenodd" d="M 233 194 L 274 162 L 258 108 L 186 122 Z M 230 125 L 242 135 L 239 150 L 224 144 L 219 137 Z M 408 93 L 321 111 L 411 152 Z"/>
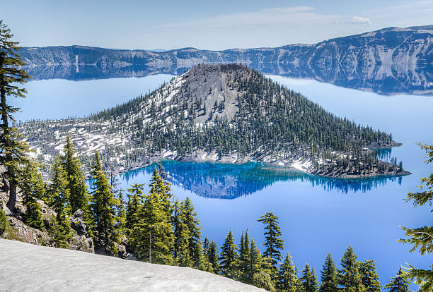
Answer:
<path fill-rule="evenodd" d="M 25 206 L 24 223 L 35 229 L 42 229 L 44 221 L 40 204 L 37 200 L 45 197 L 45 184 L 42 174 L 37 171 L 35 165 L 27 164 L 20 171 L 20 188 Z"/>

